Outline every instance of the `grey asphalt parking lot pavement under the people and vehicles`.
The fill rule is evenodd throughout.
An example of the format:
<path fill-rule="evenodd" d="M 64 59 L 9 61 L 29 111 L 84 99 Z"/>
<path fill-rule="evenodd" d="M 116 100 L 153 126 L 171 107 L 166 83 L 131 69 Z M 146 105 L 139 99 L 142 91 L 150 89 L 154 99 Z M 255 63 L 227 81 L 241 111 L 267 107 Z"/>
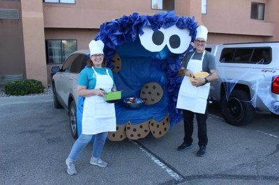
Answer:
<path fill-rule="evenodd" d="M 268 134 L 209 114 L 204 157 L 196 156 L 196 127 L 193 148 L 176 150 L 180 122 L 163 138 L 107 141 L 107 168 L 89 164 L 88 145 L 75 163 L 77 175 L 70 176 L 65 160 L 75 140 L 52 95 L 1 97 L 0 112 L 0 184 L 279 184 L 279 124 Z"/>

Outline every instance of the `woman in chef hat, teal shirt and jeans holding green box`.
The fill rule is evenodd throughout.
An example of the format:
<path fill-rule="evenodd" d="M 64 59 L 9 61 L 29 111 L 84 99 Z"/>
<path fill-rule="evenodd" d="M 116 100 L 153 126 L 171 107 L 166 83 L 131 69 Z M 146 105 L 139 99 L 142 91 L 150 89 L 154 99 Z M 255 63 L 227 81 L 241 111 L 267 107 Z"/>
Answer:
<path fill-rule="evenodd" d="M 106 92 L 116 91 L 112 71 L 105 67 L 103 53 L 104 43 L 101 40 L 92 40 L 89 43 L 90 60 L 87 67 L 80 72 L 77 94 L 85 97 L 82 113 L 82 134 L 75 141 L 68 158 L 66 159 L 67 172 L 75 175 L 74 162 L 96 135 L 90 163 L 92 165 L 107 167 L 107 162 L 100 159 L 100 154 L 105 145 L 108 131 L 116 131 L 116 116 L 114 104 L 105 102 Z"/>

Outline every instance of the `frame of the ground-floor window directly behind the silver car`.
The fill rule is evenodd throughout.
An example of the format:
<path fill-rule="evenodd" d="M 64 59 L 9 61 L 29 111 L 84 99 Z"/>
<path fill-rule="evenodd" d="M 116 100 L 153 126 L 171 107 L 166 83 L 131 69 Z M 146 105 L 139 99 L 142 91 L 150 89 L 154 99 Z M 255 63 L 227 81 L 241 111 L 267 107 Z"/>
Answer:
<path fill-rule="evenodd" d="M 60 41 L 60 57 L 61 57 L 61 63 L 50 63 L 50 55 L 49 55 L 49 47 L 47 45 L 47 42 L 49 41 Z M 77 51 L 77 39 L 46 39 L 45 40 L 45 58 L 46 58 L 46 62 L 47 65 L 60 65 L 63 64 L 66 61 L 66 58 L 68 58 L 68 56 L 70 56 L 70 54 L 68 56 L 65 56 L 65 54 L 63 55 L 63 53 L 65 53 L 65 51 L 63 51 L 63 47 L 62 47 L 62 42 L 63 41 L 75 41 L 75 50 L 70 51 L 70 54 L 73 53 L 74 51 Z"/>

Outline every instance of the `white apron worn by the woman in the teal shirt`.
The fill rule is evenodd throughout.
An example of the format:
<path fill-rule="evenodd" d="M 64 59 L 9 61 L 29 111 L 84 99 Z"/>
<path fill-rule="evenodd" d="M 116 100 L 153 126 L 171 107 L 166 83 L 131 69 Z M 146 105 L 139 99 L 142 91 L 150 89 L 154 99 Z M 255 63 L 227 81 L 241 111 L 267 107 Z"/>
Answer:
<path fill-rule="evenodd" d="M 93 67 L 92 69 L 96 74 L 96 89 L 103 88 L 106 92 L 111 92 L 113 80 L 108 70 L 107 75 L 100 75 Z M 105 102 L 104 97 L 98 95 L 86 97 L 82 113 L 82 134 L 98 134 L 105 131 L 116 131 L 114 104 Z"/>

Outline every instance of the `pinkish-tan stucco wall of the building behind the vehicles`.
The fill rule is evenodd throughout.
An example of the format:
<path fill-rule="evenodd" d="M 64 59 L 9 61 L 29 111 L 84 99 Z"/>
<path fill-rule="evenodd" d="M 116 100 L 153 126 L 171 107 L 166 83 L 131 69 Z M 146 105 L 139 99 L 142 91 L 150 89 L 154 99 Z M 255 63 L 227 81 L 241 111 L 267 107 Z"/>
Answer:
<path fill-rule="evenodd" d="M 250 19 L 251 0 L 210 0 L 202 14 L 201 0 L 175 0 L 176 15 L 193 17 L 209 29 L 208 44 L 279 40 L 278 0 L 265 4 L 264 20 Z M 0 19 L 0 78 L 22 74 L 51 83 L 45 40 L 77 40 L 77 49 L 88 49 L 103 22 L 139 13 L 154 15 L 151 0 L 76 0 L 75 4 L 37 0 L 0 1 L 1 8 L 20 10 L 20 19 Z M 2 29 L 3 28 L 3 29 Z M 16 66 L 16 67 L 15 67 Z"/>

